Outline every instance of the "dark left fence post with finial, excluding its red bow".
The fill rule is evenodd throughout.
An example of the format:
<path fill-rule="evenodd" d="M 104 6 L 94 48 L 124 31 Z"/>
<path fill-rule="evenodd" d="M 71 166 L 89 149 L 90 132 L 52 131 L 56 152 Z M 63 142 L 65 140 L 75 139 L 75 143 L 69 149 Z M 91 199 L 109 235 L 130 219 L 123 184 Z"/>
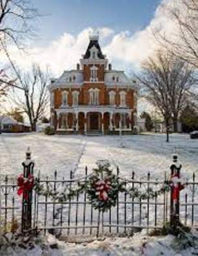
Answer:
<path fill-rule="evenodd" d="M 34 162 L 31 160 L 30 148 L 26 151 L 26 161 L 22 163 L 23 165 L 23 177 L 28 178 L 28 176 L 34 174 Z M 32 189 L 27 192 L 25 196 L 23 193 L 23 202 L 22 202 L 22 220 L 21 220 L 21 229 L 22 232 L 28 231 L 32 228 Z"/>

